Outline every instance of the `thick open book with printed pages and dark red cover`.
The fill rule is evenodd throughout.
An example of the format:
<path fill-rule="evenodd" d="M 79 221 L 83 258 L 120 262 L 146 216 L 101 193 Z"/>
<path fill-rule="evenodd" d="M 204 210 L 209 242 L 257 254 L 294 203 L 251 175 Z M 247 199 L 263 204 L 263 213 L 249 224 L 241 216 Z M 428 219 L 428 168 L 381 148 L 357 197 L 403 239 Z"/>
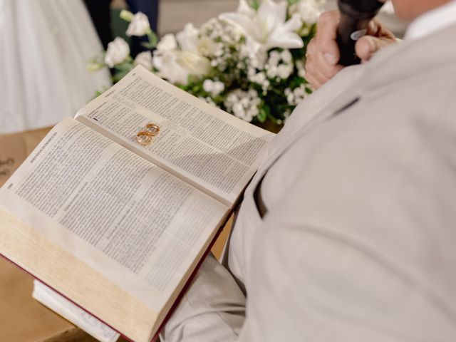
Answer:
<path fill-rule="evenodd" d="M 135 140 L 160 126 L 150 145 Z M 0 253 L 150 341 L 273 134 L 138 66 L 58 123 L 0 190 Z"/>

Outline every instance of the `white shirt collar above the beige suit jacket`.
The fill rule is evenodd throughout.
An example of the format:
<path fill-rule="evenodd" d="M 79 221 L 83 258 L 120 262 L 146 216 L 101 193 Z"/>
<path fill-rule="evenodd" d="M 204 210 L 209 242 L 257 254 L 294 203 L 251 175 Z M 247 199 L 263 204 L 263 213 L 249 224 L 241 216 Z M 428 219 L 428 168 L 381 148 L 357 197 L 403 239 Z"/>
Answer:
<path fill-rule="evenodd" d="M 437 7 L 415 19 L 408 26 L 405 39 L 422 38 L 456 22 L 456 1 Z"/>

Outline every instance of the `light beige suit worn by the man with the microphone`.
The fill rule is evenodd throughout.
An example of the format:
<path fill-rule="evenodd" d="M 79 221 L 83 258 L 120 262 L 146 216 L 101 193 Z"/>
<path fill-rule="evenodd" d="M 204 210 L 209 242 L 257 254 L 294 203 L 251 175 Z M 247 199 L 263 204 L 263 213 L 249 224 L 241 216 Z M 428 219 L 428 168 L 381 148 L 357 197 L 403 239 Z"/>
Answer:
<path fill-rule="evenodd" d="M 164 341 L 456 341 L 455 37 L 385 48 L 296 108 Z"/>

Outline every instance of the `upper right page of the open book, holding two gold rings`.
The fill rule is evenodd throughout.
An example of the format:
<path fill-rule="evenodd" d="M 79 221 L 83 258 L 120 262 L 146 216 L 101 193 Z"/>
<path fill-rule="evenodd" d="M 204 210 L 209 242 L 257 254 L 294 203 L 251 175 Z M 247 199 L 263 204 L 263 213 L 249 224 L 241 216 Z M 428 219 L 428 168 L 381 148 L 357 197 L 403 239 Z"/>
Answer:
<path fill-rule="evenodd" d="M 81 109 L 76 119 L 227 205 L 252 178 L 274 137 L 141 66 Z M 141 146 L 135 136 L 147 123 L 160 125 L 160 133 Z"/>

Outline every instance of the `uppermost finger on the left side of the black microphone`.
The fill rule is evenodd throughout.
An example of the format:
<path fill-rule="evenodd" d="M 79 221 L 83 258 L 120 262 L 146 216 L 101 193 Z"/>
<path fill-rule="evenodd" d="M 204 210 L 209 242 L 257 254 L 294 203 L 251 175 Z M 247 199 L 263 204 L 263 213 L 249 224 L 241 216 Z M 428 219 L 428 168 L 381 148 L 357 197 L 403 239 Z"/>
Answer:
<path fill-rule="evenodd" d="M 337 26 L 341 15 L 338 11 L 328 11 L 318 18 L 316 31 L 316 43 L 326 62 L 335 66 L 341 58 L 336 43 Z"/>

